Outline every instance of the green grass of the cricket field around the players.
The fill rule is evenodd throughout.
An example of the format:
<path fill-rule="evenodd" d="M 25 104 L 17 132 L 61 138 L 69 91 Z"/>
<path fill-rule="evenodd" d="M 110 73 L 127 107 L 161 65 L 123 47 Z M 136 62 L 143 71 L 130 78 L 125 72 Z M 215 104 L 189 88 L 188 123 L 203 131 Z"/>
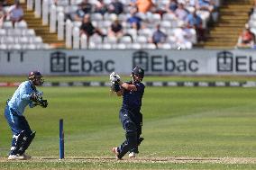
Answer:
<path fill-rule="evenodd" d="M 80 77 L 81 78 L 81 77 Z M 87 81 L 87 77 L 84 78 Z M 2 82 L 2 79 L 1 81 Z M 27 108 L 36 138 L 35 157 L 59 157 L 59 119 L 64 119 L 66 157 L 114 157 L 123 142 L 118 112 L 122 99 L 107 87 L 41 87 L 49 107 Z M 14 87 L 0 88 L 0 157 L 12 138 L 3 115 Z M 143 98 L 143 158 L 256 157 L 256 91 L 242 87 L 146 87 Z M 127 158 L 126 158 L 127 159 Z M 0 169 L 255 169 L 256 164 L 151 162 L 0 162 Z"/>

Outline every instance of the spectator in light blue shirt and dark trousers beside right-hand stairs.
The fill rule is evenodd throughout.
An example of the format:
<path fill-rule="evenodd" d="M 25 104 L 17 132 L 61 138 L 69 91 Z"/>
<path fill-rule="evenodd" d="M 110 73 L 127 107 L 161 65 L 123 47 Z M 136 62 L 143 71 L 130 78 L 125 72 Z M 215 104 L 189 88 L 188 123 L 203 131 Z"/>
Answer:
<path fill-rule="evenodd" d="M 187 15 L 187 27 L 194 28 L 197 32 L 197 41 L 205 41 L 205 29 L 203 28 L 202 19 L 197 15 L 196 10 L 193 10 Z"/>

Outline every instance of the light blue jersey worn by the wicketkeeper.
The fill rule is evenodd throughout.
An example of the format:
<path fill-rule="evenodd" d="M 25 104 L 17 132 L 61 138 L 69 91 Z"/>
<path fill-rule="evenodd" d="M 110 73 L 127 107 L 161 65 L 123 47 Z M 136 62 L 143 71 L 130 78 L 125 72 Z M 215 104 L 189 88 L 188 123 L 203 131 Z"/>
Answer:
<path fill-rule="evenodd" d="M 29 105 L 31 108 L 35 105 L 30 100 L 32 93 L 38 93 L 35 87 L 32 87 L 30 81 L 25 81 L 15 91 L 12 99 L 9 101 L 8 105 L 14 110 L 18 115 L 23 115 L 25 107 Z"/>

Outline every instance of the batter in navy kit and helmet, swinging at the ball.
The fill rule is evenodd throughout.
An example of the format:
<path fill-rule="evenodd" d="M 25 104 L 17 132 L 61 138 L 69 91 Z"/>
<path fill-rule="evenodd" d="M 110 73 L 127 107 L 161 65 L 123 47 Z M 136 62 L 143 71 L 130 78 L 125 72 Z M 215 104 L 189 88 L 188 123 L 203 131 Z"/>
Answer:
<path fill-rule="evenodd" d="M 110 75 L 112 90 L 118 95 L 123 95 L 123 105 L 119 112 L 120 121 L 125 130 L 126 139 L 117 148 L 112 148 L 115 156 L 121 159 L 127 152 L 129 157 L 135 157 L 139 153 L 138 146 L 143 138 L 142 134 L 142 96 L 145 86 L 142 84 L 144 70 L 135 67 L 132 72 L 132 81 L 123 83 L 120 76 L 114 72 Z"/>

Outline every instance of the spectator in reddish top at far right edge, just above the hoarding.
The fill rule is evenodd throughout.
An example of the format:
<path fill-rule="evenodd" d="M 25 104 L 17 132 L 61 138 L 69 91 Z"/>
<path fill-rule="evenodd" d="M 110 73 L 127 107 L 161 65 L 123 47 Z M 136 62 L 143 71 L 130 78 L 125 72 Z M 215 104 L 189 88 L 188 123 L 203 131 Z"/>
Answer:
<path fill-rule="evenodd" d="M 245 28 L 239 36 L 237 47 L 238 48 L 253 48 L 255 45 L 255 35 L 250 31 L 248 23 L 245 24 Z"/>

